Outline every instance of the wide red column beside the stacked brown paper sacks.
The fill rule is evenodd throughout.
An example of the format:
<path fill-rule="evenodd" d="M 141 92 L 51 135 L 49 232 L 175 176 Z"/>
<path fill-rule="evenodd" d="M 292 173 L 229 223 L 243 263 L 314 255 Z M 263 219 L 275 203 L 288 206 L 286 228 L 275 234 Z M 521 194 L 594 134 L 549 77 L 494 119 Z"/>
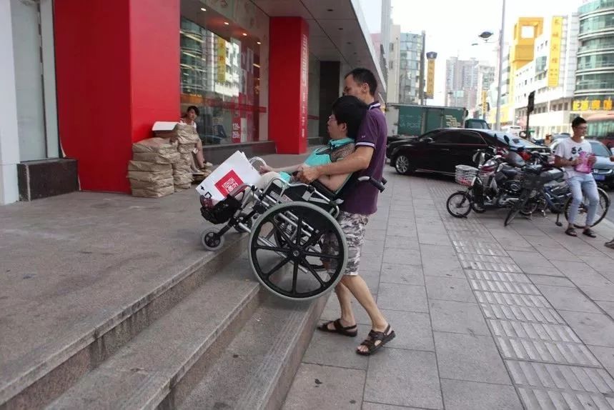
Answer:
<path fill-rule="evenodd" d="M 59 136 L 81 189 L 129 192 L 131 145 L 179 118 L 179 0 L 54 1 Z"/>

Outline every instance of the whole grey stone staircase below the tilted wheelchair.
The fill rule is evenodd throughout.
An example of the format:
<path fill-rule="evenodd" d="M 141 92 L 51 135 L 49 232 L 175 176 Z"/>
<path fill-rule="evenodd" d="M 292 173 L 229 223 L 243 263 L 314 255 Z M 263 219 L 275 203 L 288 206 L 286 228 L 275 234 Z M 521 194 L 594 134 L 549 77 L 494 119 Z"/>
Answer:
<path fill-rule="evenodd" d="M 104 323 L 2 369 L 0 409 L 279 408 L 327 296 L 272 296 L 245 249 L 237 236 Z"/>

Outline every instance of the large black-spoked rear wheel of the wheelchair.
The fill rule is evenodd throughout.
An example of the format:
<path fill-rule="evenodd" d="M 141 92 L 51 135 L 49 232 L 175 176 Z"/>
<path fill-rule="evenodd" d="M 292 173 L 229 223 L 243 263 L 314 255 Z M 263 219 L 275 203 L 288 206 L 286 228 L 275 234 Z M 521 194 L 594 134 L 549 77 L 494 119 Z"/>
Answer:
<path fill-rule="evenodd" d="M 324 238 L 335 246 L 322 249 Z M 249 236 L 248 254 L 258 281 L 290 300 L 315 299 L 332 290 L 347 264 L 341 226 L 320 206 L 307 202 L 279 204 L 264 212 Z M 317 271 L 322 261 L 329 269 Z"/>

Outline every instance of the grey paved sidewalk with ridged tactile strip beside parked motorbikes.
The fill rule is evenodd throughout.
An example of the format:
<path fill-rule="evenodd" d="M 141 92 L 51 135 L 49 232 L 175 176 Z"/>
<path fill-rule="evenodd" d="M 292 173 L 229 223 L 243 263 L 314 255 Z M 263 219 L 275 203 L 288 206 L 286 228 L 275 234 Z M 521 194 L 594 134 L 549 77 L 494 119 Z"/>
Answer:
<path fill-rule="evenodd" d="M 360 306 L 358 337 L 316 331 L 284 409 L 614 409 L 614 226 L 454 219 L 455 184 L 386 171 L 361 274 L 397 338 L 355 354 Z M 332 295 L 321 319 L 337 317 Z"/>

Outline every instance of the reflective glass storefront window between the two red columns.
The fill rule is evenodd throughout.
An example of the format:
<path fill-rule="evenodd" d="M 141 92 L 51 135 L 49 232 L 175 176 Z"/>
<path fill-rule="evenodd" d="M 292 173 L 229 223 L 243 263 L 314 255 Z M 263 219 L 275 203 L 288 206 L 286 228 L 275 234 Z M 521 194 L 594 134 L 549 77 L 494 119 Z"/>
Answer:
<path fill-rule="evenodd" d="M 259 47 L 181 20 L 181 103 L 199 108 L 204 144 L 258 141 Z"/>

